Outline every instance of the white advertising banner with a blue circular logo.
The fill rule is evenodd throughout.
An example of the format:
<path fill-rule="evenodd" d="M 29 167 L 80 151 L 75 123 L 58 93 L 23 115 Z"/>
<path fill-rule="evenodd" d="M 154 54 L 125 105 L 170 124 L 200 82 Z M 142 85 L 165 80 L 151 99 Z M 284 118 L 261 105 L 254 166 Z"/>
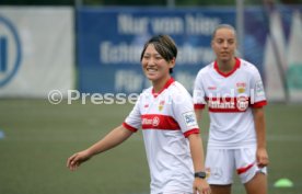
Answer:
<path fill-rule="evenodd" d="M 0 96 L 46 98 L 73 87 L 73 10 L 0 8 Z"/>

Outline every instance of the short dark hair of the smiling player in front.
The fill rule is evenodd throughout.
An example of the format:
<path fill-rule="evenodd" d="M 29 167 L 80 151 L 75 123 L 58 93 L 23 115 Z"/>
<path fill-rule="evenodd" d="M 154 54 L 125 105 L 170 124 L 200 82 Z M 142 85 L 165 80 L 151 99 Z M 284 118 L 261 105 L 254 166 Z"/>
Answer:
<path fill-rule="evenodd" d="M 151 37 L 143 46 L 143 49 L 140 55 L 140 61 L 144 55 L 147 47 L 152 44 L 159 54 L 166 60 L 171 61 L 173 58 L 177 57 L 177 47 L 172 37 L 169 35 L 156 35 Z M 170 73 L 173 72 L 173 69 L 170 69 Z"/>

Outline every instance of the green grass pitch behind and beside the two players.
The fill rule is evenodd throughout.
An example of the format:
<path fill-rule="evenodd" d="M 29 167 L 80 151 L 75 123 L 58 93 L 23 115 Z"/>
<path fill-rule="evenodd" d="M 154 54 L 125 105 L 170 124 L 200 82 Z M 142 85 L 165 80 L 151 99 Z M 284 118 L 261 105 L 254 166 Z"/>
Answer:
<path fill-rule="evenodd" d="M 0 194 L 148 194 L 150 179 L 140 132 L 76 172 L 66 168 L 71 153 L 119 125 L 131 107 L 1 99 Z M 301 116 L 302 104 L 266 107 L 269 194 L 302 193 Z M 207 135 L 208 123 L 205 113 L 201 135 Z M 290 179 L 293 187 L 274 187 L 281 178 Z M 233 194 L 243 193 L 236 179 Z"/>

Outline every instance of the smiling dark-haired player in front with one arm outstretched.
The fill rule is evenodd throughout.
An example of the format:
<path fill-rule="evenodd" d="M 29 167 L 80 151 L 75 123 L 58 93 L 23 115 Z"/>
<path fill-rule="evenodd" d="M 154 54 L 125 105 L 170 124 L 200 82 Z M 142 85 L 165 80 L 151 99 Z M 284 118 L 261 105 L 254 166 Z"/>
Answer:
<path fill-rule="evenodd" d="M 167 35 L 153 36 L 144 44 L 141 66 L 152 87 L 140 94 L 121 125 L 68 159 L 70 170 L 121 144 L 141 128 L 152 194 L 210 193 L 205 180 L 204 148 L 191 96 L 171 77 L 176 56 L 177 47 Z"/>

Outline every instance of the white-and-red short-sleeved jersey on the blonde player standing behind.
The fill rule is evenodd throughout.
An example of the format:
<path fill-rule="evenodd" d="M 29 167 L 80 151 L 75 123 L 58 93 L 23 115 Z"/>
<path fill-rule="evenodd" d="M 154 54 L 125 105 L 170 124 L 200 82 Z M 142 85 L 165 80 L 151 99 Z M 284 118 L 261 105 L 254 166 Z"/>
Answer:
<path fill-rule="evenodd" d="M 202 68 L 195 80 L 194 106 L 208 104 L 210 132 L 208 148 L 235 149 L 256 145 L 251 107 L 267 104 L 257 68 L 236 58 L 229 73 L 219 71 L 217 62 Z"/>

